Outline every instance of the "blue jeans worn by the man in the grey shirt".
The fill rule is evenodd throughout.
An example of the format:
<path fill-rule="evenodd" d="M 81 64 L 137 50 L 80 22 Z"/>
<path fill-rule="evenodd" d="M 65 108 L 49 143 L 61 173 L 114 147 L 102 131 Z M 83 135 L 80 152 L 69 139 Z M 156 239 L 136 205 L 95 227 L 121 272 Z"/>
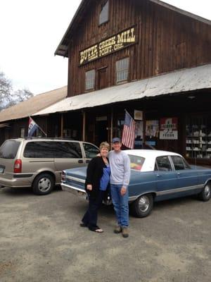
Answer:
<path fill-rule="evenodd" d="M 128 207 L 128 189 L 122 196 L 120 190 L 122 185 L 110 184 L 110 193 L 117 216 L 117 223 L 119 226 L 129 226 L 129 207 Z"/>

